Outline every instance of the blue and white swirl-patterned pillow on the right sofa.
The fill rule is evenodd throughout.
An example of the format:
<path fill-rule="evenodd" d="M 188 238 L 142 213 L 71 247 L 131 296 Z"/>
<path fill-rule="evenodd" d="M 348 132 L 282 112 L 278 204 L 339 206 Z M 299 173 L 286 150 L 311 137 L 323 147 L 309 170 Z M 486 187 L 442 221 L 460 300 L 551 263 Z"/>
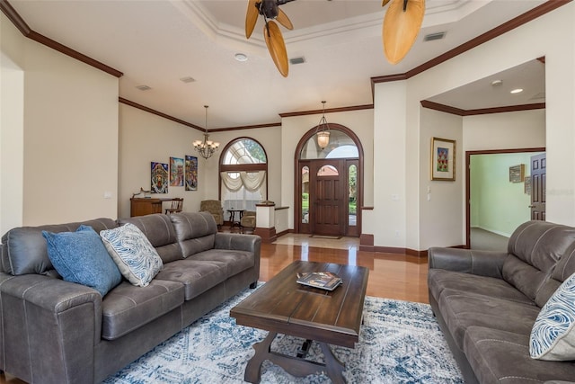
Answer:
<path fill-rule="evenodd" d="M 575 360 L 575 273 L 541 308 L 529 340 L 534 359 Z"/>

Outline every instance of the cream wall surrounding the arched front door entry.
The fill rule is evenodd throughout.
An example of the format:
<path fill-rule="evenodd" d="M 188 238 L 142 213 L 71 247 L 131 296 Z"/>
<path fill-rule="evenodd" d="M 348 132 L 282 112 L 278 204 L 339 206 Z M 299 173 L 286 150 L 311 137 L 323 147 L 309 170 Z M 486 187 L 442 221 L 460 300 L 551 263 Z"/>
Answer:
<path fill-rule="evenodd" d="M 281 203 L 276 205 L 289 207 L 289 228 L 294 228 L 294 204 L 295 204 L 295 159 L 296 147 L 299 140 L 310 129 L 317 126 L 322 115 L 304 115 L 283 118 L 281 121 Z M 364 205 L 370 206 L 374 201 L 373 188 L 373 135 L 374 135 L 374 112 L 373 110 L 361 110 L 350 112 L 326 113 L 328 123 L 341 124 L 358 136 L 364 151 Z"/>

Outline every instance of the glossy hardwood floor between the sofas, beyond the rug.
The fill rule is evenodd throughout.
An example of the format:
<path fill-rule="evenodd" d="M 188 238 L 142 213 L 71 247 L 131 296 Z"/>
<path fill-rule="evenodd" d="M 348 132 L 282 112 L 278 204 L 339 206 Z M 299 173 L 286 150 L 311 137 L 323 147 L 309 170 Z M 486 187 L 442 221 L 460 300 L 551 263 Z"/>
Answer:
<path fill-rule="evenodd" d="M 280 243 L 287 244 L 261 245 L 261 281 L 269 281 L 272 276 L 295 260 L 361 265 L 369 268 L 368 296 L 429 303 L 427 258 L 358 251 L 358 244 L 354 239 L 347 239 L 348 243 L 345 246 L 341 246 L 341 241 L 332 243 L 333 246 L 347 249 L 329 248 L 327 246 L 332 246 L 329 240 L 304 239 L 304 237 L 280 237 L 280 239 L 282 239 Z M 25 382 L 2 373 L 0 384 L 25 384 Z"/>

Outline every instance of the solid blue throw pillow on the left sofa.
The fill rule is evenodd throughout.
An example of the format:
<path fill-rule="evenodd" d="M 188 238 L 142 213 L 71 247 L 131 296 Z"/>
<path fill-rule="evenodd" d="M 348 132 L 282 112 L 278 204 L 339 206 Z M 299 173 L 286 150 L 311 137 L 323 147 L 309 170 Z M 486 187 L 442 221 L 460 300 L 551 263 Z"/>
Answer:
<path fill-rule="evenodd" d="M 92 227 L 81 225 L 75 232 L 42 231 L 48 243 L 48 256 L 65 281 L 98 290 L 102 298 L 122 281 L 102 238 Z"/>

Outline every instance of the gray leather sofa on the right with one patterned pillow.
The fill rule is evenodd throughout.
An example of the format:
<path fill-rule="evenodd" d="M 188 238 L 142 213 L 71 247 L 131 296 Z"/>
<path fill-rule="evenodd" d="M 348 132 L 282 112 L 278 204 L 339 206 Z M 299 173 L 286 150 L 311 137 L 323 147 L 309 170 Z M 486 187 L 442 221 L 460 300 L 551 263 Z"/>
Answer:
<path fill-rule="evenodd" d="M 575 272 L 575 228 L 528 221 L 508 252 L 429 248 L 429 303 L 466 383 L 575 381 L 575 362 L 529 355 L 544 303 Z"/>

